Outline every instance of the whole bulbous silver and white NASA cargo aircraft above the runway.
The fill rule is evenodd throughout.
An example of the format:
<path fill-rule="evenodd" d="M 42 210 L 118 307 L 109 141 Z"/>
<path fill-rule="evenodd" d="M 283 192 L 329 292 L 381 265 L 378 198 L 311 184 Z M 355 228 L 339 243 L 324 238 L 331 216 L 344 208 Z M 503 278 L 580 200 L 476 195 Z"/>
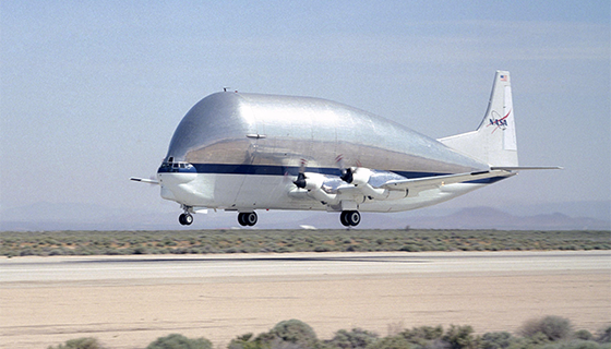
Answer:
<path fill-rule="evenodd" d="M 182 225 L 214 208 L 254 226 L 256 209 L 399 212 L 438 204 L 517 173 L 510 73 L 498 71 L 476 131 L 433 140 L 339 103 L 221 92 L 200 100 L 171 139 L 156 180 Z M 555 168 L 555 167 L 554 167 Z"/>

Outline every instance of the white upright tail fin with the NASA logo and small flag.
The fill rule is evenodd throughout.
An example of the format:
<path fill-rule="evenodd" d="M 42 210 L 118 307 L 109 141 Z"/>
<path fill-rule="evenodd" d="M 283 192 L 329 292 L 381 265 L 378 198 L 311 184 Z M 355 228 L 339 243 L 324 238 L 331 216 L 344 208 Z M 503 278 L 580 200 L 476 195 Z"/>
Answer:
<path fill-rule="evenodd" d="M 517 142 L 510 72 L 496 71 L 488 110 L 476 131 L 439 140 L 494 167 L 517 167 Z"/>

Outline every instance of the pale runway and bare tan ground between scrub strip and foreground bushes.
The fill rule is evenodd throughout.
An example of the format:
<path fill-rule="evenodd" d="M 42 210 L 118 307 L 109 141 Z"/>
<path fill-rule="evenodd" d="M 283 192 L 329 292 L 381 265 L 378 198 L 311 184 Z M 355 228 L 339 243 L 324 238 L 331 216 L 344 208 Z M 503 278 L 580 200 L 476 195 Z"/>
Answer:
<path fill-rule="evenodd" d="M 142 348 L 171 333 L 225 347 L 289 318 L 323 339 L 352 327 L 486 333 L 552 314 L 611 325 L 611 251 L 0 258 L 2 348 L 83 336 Z"/>

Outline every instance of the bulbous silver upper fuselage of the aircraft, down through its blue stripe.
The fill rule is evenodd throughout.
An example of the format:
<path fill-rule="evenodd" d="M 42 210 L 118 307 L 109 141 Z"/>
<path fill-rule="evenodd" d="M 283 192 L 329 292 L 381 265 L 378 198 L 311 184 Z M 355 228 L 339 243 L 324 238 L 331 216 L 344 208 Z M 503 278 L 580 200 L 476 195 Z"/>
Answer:
<path fill-rule="evenodd" d="M 197 172 L 337 173 L 346 166 L 407 177 L 487 169 L 440 142 L 406 127 L 339 103 L 310 98 L 217 93 L 182 119 L 166 161 L 188 163 Z"/>

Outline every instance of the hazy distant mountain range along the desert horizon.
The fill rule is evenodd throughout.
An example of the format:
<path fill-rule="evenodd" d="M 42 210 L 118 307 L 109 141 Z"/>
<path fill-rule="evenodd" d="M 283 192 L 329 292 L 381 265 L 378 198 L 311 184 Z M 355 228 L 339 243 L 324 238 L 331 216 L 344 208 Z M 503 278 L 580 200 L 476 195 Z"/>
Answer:
<path fill-rule="evenodd" d="M 257 213 L 256 229 L 344 228 L 337 214 L 289 210 Z M 611 230 L 609 213 L 611 201 L 507 207 L 506 210 L 492 207 L 458 210 L 427 208 L 395 214 L 363 213 L 359 228 L 405 229 L 409 226 L 428 229 Z M 189 228 L 178 224 L 178 210 L 155 213 L 92 204 L 38 203 L 0 212 L 0 231 L 240 228 L 236 213 L 195 215 L 195 222 Z"/>

